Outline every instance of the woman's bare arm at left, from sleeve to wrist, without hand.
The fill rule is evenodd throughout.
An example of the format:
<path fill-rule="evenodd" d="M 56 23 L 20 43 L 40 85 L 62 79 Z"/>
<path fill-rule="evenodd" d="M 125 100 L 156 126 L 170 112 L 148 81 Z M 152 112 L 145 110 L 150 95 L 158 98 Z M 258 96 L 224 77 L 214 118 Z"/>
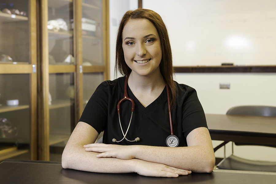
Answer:
<path fill-rule="evenodd" d="M 76 169 L 91 172 L 110 172 L 112 167 L 116 167 L 115 172 L 132 172 L 130 162 L 109 158 L 99 160 L 96 158 L 97 152 L 87 152 L 83 145 L 94 143 L 98 137 L 98 132 L 90 125 L 79 122 L 72 132 L 62 154 L 62 167 L 66 169 Z"/>

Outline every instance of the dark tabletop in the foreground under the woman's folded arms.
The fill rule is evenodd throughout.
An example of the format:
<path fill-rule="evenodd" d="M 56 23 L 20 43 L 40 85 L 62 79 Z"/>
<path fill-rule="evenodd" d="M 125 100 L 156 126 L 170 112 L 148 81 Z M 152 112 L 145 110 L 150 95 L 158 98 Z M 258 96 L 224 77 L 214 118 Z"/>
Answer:
<path fill-rule="evenodd" d="M 276 173 L 214 170 L 212 173 L 192 173 L 178 178 L 140 176 L 136 173 L 105 174 L 63 169 L 59 162 L 5 160 L 0 164 L 0 183 L 266 183 L 275 184 Z"/>

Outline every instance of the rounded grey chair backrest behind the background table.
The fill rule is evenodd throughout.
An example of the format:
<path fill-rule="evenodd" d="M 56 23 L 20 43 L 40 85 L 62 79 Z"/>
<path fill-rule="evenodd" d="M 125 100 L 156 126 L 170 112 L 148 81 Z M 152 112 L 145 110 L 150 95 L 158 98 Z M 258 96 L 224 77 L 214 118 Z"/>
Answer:
<path fill-rule="evenodd" d="M 276 107 L 261 105 L 236 106 L 229 109 L 226 114 L 276 117 Z"/>

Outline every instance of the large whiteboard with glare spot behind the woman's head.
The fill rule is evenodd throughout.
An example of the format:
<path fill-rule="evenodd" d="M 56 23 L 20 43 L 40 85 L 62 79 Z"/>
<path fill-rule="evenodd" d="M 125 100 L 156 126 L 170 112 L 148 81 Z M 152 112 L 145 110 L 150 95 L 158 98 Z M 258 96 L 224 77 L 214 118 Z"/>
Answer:
<path fill-rule="evenodd" d="M 167 25 L 174 66 L 276 65 L 276 0 L 143 0 Z"/>

